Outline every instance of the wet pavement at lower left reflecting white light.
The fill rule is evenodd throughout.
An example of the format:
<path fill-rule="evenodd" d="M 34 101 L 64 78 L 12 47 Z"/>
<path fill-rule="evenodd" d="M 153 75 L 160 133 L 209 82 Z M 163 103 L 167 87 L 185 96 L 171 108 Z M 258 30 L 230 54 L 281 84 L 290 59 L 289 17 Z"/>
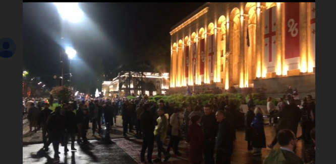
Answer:
<path fill-rule="evenodd" d="M 40 164 L 53 163 L 52 146 L 49 147 L 48 152 L 40 150 L 43 144 L 34 144 L 24 146 L 22 163 Z M 69 145 L 70 146 L 70 145 Z M 76 152 L 64 152 L 64 147 L 60 146 L 60 163 L 125 163 L 136 164 L 130 155 L 128 155 L 117 144 L 105 145 L 99 141 L 91 141 L 88 146 L 79 146 L 75 144 Z"/>

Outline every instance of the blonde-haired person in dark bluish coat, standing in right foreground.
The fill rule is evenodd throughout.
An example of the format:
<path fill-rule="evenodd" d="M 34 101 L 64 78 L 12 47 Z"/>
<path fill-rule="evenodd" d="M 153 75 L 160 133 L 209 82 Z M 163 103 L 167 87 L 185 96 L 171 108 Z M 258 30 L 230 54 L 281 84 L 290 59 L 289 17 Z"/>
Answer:
<path fill-rule="evenodd" d="M 261 156 L 261 149 L 266 148 L 266 135 L 264 131 L 264 118 L 261 108 L 257 107 L 254 110 L 254 119 L 251 123 L 252 127 L 252 144 L 253 155 Z"/>

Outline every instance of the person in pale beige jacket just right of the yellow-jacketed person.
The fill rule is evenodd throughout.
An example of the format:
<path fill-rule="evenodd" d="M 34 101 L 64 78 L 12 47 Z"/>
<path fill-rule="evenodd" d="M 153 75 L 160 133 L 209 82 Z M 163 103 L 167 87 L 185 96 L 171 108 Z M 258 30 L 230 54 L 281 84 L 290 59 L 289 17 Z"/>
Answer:
<path fill-rule="evenodd" d="M 174 114 L 170 119 L 170 124 L 172 126 L 172 134 L 167 146 L 166 152 L 171 151 L 171 147 L 173 147 L 175 155 L 181 155 L 179 152 L 179 142 L 182 138 L 182 126 L 183 126 L 183 117 L 181 116 L 182 109 L 176 108 L 174 110 Z"/>

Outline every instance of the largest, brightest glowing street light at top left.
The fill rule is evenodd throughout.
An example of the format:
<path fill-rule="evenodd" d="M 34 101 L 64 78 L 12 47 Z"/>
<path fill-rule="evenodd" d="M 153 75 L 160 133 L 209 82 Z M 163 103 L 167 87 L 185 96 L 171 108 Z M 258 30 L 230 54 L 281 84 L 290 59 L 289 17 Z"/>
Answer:
<path fill-rule="evenodd" d="M 57 7 L 62 19 L 78 23 L 84 18 L 83 11 L 79 8 L 78 3 L 53 3 Z"/>

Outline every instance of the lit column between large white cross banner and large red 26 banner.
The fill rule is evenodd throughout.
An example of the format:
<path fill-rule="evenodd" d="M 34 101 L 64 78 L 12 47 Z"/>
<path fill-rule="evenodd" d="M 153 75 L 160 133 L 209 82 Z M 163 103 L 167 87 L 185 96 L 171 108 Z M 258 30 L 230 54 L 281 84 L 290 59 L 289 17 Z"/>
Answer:
<path fill-rule="evenodd" d="M 276 75 L 283 74 L 283 12 L 282 5 L 276 6 L 276 63 L 275 72 Z"/>

